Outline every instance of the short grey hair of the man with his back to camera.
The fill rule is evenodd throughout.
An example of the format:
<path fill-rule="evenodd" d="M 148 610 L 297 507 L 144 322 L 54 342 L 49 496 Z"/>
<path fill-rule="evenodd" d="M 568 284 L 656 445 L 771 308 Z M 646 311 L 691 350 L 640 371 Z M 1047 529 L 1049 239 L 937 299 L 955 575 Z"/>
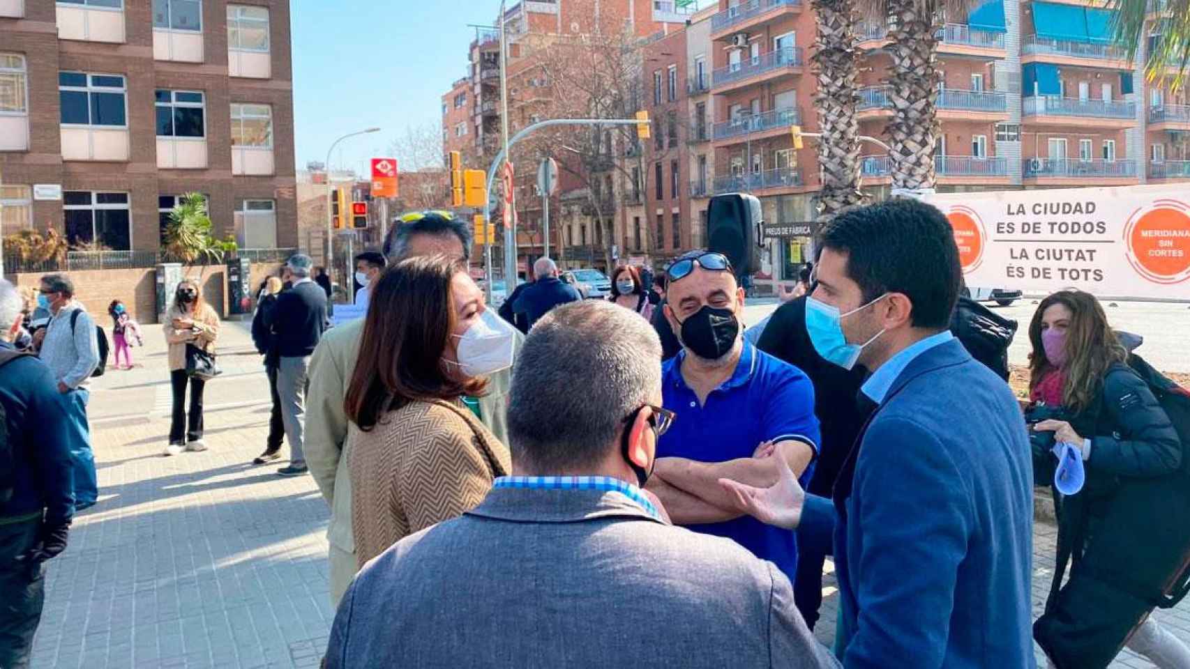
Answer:
<path fill-rule="evenodd" d="M 660 359 L 657 332 L 632 309 L 593 299 L 551 310 L 530 330 L 513 368 L 513 460 L 537 474 L 602 462 L 619 448 L 624 419 L 658 402 Z"/>

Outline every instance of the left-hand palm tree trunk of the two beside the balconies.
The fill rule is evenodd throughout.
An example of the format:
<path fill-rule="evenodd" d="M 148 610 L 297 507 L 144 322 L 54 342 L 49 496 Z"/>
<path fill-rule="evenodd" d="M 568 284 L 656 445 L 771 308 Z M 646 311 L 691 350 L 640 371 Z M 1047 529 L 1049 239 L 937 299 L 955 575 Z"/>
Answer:
<path fill-rule="evenodd" d="M 819 77 L 814 107 L 822 137 L 818 143 L 822 189 L 818 196 L 819 217 L 838 213 L 864 201 L 859 191 L 859 122 L 856 107 L 856 7 L 853 0 L 815 0 L 818 36 L 814 46 Z"/>

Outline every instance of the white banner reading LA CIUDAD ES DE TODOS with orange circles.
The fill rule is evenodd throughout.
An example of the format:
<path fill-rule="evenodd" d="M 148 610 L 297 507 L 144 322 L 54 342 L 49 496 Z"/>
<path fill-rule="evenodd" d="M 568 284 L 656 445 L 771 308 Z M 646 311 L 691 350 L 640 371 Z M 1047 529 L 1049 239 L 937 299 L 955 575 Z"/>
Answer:
<path fill-rule="evenodd" d="M 1190 189 L 1132 185 L 926 198 L 946 214 L 969 286 L 1190 299 Z"/>

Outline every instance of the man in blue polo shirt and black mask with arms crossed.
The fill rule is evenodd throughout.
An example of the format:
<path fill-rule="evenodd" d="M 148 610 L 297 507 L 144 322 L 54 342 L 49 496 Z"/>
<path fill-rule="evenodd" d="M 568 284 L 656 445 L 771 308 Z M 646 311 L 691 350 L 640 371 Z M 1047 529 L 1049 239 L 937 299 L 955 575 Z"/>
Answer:
<path fill-rule="evenodd" d="M 777 459 L 756 457 L 772 452 L 808 481 L 819 443 L 814 386 L 797 367 L 740 336 L 744 289 L 726 257 L 693 251 L 670 265 L 666 278 L 665 318 L 682 351 L 663 366 L 662 392 L 677 419 L 657 442 L 646 487 L 675 523 L 734 539 L 793 581 L 794 532 L 741 515 L 719 479 L 775 484 Z"/>

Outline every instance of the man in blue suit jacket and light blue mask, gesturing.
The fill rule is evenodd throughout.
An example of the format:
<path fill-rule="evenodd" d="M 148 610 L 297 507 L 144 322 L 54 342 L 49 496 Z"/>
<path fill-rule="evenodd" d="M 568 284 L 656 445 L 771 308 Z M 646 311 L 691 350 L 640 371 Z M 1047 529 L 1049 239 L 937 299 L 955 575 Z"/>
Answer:
<path fill-rule="evenodd" d="M 819 247 L 810 340 L 873 370 L 860 400 L 876 411 L 833 499 L 788 472 L 722 485 L 762 520 L 833 525 L 848 669 L 1034 667 L 1029 444 L 1008 386 L 947 330 L 960 267 L 946 217 L 884 202 L 837 217 Z"/>

